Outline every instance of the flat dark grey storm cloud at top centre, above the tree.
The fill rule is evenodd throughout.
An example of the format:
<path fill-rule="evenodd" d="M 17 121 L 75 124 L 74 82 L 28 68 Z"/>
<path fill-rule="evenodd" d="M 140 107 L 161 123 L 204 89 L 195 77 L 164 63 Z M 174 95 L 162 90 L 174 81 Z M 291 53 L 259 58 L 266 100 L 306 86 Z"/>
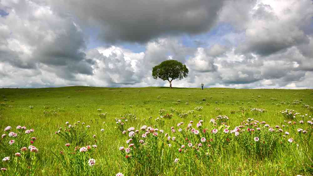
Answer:
<path fill-rule="evenodd" d="M 147 42 L 161 35 L 206 32 L 224 0 L 53 0 L 56 11 L 100 27 L 106 42 Z"/>

